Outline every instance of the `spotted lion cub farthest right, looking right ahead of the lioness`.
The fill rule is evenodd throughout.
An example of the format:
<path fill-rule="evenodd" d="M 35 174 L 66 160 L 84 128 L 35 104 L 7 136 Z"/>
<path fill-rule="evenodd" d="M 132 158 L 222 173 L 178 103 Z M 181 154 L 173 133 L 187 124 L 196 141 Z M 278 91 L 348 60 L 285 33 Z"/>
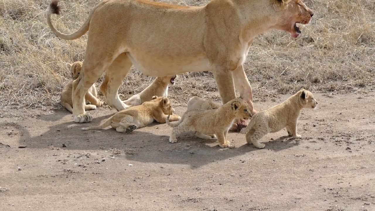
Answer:
<path fill-rule="evenodd" d="M 241 133 L 246 133 L 246 141 L 256 148 L 264 148 L 265 145 L 259 143 L 259 140 L 267 133 L 276 133 L 283 128 L 287 129 L 289 136 L 299 139 L 301 136 L 297 134 L 297 119 L 300 110 L 315 109 L 317 104 L 310 91 L 301 89 L 281 104 L 254 115 Z"/>

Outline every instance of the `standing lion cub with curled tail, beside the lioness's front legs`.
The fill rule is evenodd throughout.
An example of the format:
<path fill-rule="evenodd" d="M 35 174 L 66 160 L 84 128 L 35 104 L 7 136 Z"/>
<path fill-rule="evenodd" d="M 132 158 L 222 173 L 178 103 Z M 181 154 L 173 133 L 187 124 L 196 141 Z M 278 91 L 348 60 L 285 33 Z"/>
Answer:
<path fill-rule="evenodd" d="M 226 148 L 230 142 L 226 140 L 226 134 L 234 119 L 248 119 L 251 117 L 249 105 L 241 98 L 235 98 L 218 109 L 203 110 L 193 109 L 184 113 L 178 122 L 169 122 L 169 116 L 166 124 L 173 127 L 169 136 L 169 142 L 176 143 L 176 136 L 184 132 L 195 132 L 205 134 L 216 134 L 219 146 Z M 207 136 L 206 139 L 211 139 Z"/>

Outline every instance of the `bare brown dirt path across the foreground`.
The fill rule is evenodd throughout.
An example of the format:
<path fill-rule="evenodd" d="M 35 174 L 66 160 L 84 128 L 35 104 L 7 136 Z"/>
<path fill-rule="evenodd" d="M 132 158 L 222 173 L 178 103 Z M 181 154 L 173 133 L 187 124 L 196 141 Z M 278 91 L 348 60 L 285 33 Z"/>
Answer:
<path fill-rule="evenodd" d="M 84 125 L 65 110 L 36 118 L 2 113 L 0 207 L 375 210 L 375 93 L 315 97 L 318 108 L 299 118 L 303 139 L 282 130 L 264 137 L 264 149 L 246 144 L 239 133 L 228 133 L 235 148 L 226 150 L 191 134 L 171 144 L 165 124 L 133 134 L 80 130 L 114 113 L 105 108 L 91 112 L 92 123 Z M 179 115 L 185 109 L 176 107 Z"/>

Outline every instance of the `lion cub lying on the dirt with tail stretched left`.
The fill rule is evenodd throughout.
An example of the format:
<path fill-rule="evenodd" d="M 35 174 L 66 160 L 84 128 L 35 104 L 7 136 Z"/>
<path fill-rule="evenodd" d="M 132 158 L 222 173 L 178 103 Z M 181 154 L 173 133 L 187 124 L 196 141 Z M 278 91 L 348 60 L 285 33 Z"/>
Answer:
<path fill-rule="evenodd" d="M 151 124 L 154 120 L 159 123 L 165 123 L 167 115 L 172 115 L 173 112 L 174 109 L 168 98 L 153 96 L 151 101 L 146 101 L 141 105 L 121 110 L 102 124 L 82 128 L 82 130 L 104 129 L 108 126 L 112 126 L 117 132 L 132 133 L 133 130 L 145 127 Z M 177 121 L 180 119 L 180 116 L 171 116 L 171 121 Z"/>

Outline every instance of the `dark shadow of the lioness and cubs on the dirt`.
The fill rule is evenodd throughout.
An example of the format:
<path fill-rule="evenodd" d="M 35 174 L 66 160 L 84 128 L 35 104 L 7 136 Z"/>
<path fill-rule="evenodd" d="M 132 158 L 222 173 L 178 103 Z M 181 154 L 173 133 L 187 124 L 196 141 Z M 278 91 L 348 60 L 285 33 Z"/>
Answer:
<path fill-rule="evenodd" d="M 64 115 L 64 117 L 62 118 L 61 115 Z M 66 111 L 56 111 L 51 115 L 41 116 L 40 119 L 46 121 L 44 124 L 48 124 L 42 127 L 48 127 L 48 131 L 34 137 L 30 135 L 27 128 L 21 125 L 21 127 L 18 127 L 18 130 L 23 134 L 19 140 L 20 145 L 27 145 L 28 148 L 49 148 L 53 146 L 62 150 L 85 151 L 110 148 L 131 149 L 134 154 L 124 156 L 128 160 L 144 163 L 189 164 L 191 167 L 204 166 L 211 162 L 248 154 L 255 150 L 272 149 L 279 151 L 296 146 L 291 143 L 293 139 L 283 142 L 285 137 L 281 137 L 271 142 L 266 142 L 265 149 L 257 149 L 247 144 L 245 136 L 239 134 L 238 137 L 243 139 L 241 146 L 222 149 L 217 144 L 217 139 L 198 139 L 192 133 L 181 134 L 178 137 L 179 142 L 171 144 L 169 143 L 171 128 L 166 127 L 164 124 L 153 123 L 148 127 L 142 128 L 143 130 L 135 130 L 132 134 L 118 133 L 112 128 L 82 131 L 82 127 L 99 124 L 113 115 L 113 113 L 105 116 L 95 114 L 93 121 L 88 124 L 75 123 L 69 120 L 71 119 L 70 115 Z M 49 122 L 54 122 L 58 119 L 66 122 L 49 124 Z M 152 133 L 145 130 L 151 130 Z"/>

